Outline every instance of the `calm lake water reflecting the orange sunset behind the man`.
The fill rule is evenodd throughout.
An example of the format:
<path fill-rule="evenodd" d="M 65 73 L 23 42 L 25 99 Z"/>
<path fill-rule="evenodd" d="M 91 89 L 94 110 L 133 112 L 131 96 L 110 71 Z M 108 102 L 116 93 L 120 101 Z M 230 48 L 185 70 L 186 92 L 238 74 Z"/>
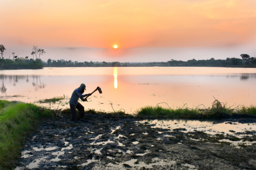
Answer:
<path fill-rule="evenodd" d="M 157 104 L 162 107 L 210 107 L 215 99 L 228 107 L 255 105 L 256 69 L 221 67 L 47 67 L 43 70 L 1 70 L 1 97 L 46 107 L 68 108 L 69 97 L 81 83 L 97 91 L 85 109 L 134 113 Z M 56 104 L 39 100 L 64 97 Z M 214 99 L 215 97 L 215 99 Z M 202 105 L 200 107 L 203 107 Z M 204 107 L 203 107 L 204 108 Z"/>

